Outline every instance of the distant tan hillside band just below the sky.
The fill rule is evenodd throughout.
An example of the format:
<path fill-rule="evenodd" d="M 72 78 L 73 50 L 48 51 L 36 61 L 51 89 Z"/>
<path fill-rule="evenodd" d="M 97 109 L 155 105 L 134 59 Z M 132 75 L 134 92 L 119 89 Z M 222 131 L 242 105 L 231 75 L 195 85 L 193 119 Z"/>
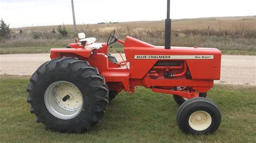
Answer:
<path fill-rule="evenodd" d="M 211 18 L 193 18 L 193 19 L 172 19 L 172 30 L 187 30 L 187 29 L 207 29 L 210 26 L 213 30 L 219 30 L 221 28 L 223 30 L 234 30 L 235 28 L 243 28 L 238 26 L 247 26 L 248 28 L 255 28 L 256 17 L 248 16 L 248 17 L 211 17 Z M 138 22 L 124 22 L 117 24 L 84 24 L 77 25 L 78 31 L 89 31 L 90 29 L 96 30 L 100 33 L 107 32 L 109 34 L 113 27 L 122 29 L 124 26 L 124 30 L 127 32 L 127 26 L 130 26 L 131 30 L 134 28 L 153 28 L 153 29 L 164 29 L 165 23 L 164 20 L 159 21 L 138 21 Z M 52 28 L 56 28 L 56 25 L 52 26 L 34 26 L 34 27 L 22 27 L 15 28 L 14 30 L 31 30 L 31 31 L 44 31 L 44 30 L 52 30 Z M 72 29 L 72 25 L 66 25 L 66 27 Z M 104 30 L 103 30 L 104 29 Z M 110 31 L 110 32 L 109 32 Z M 118 32 L 118 31 L 117 31 Z M 118 32 L 120 34 L 120 32 Z M 127 34 L 123 33 L 122 34 Z"/>

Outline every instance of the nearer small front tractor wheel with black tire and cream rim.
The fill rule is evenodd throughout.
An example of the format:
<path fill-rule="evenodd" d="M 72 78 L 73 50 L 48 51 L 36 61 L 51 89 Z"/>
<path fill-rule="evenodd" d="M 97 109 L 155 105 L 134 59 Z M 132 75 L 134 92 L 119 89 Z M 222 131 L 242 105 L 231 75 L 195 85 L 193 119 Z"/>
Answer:
<path fill-rule="evenodd" d="M 203 97 L 188 99 L 177 112 L 177 124 L 185 133 L 212 134 L 218 129 L 220 122 L 217 104 Z"/>

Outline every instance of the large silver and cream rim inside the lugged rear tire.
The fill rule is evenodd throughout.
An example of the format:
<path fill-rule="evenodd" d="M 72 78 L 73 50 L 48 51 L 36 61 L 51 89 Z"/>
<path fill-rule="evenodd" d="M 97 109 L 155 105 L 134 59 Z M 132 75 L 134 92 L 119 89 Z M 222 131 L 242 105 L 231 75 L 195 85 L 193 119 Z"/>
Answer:
<path fill-rule="evenodd" d="M 46 89 L 44 103 L 53 116 L 71 119 L 82 111 L 83 96 L 76 85 L 67 81 L 57 81 Z"/>

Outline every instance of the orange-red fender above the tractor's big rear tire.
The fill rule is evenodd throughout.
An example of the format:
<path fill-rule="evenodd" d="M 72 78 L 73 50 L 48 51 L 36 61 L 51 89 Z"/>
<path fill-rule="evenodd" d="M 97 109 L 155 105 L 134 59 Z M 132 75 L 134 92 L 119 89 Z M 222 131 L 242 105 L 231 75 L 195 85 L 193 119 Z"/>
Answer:
<path fill-rule="evenodd" d="M 84 58 L 89 58 L 93 51 L 93 48 L 51 48 L 50 58 L 55 59 L 63 54 L 76 54 Z"/>

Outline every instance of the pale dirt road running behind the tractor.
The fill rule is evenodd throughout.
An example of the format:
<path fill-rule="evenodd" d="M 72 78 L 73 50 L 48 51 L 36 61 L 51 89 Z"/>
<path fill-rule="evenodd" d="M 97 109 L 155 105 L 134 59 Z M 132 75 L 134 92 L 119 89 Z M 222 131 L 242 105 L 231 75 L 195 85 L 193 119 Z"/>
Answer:
<path fill-rule="evenodd" d="M 0 75 L 31 75 L 50 54 L 0 55 Z M 121 60 L 119 54 L 113 54 Z M 221 80 L 215 83 L 256 85 L 256 56 L 223 55 Z"/>

